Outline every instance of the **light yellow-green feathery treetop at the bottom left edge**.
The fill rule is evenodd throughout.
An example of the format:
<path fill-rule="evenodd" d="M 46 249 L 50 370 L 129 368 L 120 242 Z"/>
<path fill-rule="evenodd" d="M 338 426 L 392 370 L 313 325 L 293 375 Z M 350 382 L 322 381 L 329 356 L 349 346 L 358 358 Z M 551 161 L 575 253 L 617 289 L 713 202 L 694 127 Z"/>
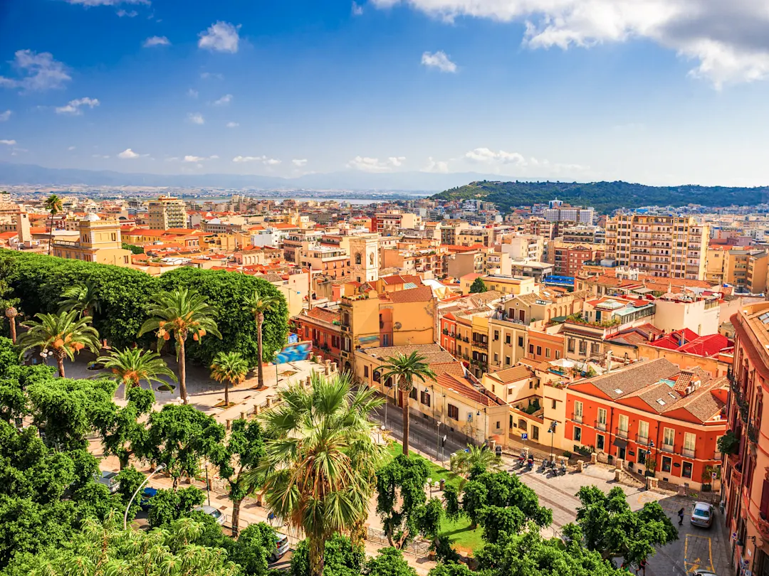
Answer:
<path fill-rule="evenodd" d="M 240 576 L 241 568 L 222 548 L 201 545 L 205 527 L 181 518 L 165 528 L 124 530 L 113 515 L 103 524 L 85 521 L 72 545 L 48 549 L 32 562 L 28 576 Z M 15 574 L 13 575 L 15 576 Z"/>

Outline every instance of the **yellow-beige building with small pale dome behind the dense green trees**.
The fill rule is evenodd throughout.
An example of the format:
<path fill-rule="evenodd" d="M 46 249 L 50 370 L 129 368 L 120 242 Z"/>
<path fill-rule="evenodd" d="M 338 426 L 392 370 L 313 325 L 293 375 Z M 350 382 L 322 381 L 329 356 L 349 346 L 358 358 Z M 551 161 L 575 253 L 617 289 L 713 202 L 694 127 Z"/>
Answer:
<path fill-rule="evenodd" d="M 115 266 L 131 266 L 131 250 L 124 250 L 118 220 L 88 214 L 78 224 L 77 240 L 54 239 L 54 256 Z"/>

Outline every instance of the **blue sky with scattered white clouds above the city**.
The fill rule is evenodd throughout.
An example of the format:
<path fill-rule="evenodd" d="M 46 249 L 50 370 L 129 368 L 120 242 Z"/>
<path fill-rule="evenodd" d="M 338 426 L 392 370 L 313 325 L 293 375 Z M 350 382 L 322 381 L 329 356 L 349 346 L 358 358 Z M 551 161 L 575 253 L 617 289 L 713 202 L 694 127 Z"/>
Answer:
<path fill-rule="evenodd" d="M 0 161 L 769 184 L 754 0 L 4 0 Z"/>

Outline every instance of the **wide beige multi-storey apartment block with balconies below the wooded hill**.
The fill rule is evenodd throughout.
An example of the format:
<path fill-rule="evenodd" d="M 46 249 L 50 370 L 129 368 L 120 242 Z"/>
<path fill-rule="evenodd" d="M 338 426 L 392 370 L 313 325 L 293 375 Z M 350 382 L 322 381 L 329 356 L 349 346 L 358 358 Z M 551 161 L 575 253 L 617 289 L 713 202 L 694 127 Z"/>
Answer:
<path fill-rule="evenodd" d="M 708 236 L 693 217 L 619 214 L 606 223 L 606 257 L 651 276 L 704 280 Z"/>

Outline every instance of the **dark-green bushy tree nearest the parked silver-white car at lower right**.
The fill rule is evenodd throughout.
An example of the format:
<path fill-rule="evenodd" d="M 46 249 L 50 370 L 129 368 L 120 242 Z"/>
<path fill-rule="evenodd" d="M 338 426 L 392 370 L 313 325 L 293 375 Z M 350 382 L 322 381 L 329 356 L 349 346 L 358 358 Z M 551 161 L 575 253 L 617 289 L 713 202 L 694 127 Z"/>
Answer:
<path fill-rule="evenodd" d="M 577 493 L 577 524 L 588 550 L 597 551 L 604 559 L 621 556 L 634 566 L 655 549 L 677 540 L 678 531 L 659 502 L 647 502 L 632 511 L 619 486 L 608 494 L 596 486 L 583 486 Z"/>

